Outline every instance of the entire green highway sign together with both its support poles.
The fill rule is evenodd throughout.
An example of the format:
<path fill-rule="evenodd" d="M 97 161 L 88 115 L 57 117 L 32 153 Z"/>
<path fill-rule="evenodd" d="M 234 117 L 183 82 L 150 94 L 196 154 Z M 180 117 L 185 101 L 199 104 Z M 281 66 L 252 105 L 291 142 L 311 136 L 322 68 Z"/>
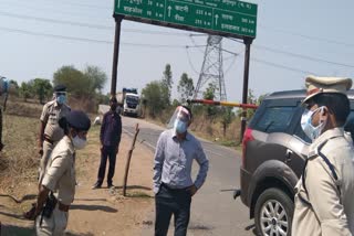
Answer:
<path fill-rule="evenodd" d="M 123 19 L 242 39 L 246 45 L 242 103 L 247 104 L 251 44 L 256 37 L 258 7 L 238 0 L 115 0 L 115 40 L 111 95 L 116 94 L 121 23 Z M 246 109 L 241 135 L 246 130 Z"/>

